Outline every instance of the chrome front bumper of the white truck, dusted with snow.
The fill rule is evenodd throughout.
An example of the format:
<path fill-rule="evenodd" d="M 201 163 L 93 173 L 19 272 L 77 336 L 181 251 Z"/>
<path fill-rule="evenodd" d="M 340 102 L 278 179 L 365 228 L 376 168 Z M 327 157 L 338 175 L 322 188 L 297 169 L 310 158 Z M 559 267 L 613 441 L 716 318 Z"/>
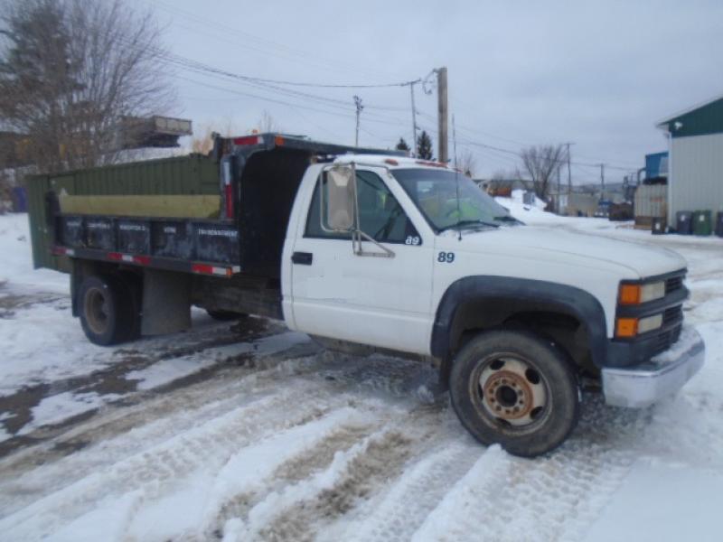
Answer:
<path fill-rule="evenodd" d="M 674 395 L 703 367 L 705 354 L 700 334 L 684 328 L 681 339 L 652 360 L 635 367 L 602 369 L 606 403 L 642 408 Z"/>

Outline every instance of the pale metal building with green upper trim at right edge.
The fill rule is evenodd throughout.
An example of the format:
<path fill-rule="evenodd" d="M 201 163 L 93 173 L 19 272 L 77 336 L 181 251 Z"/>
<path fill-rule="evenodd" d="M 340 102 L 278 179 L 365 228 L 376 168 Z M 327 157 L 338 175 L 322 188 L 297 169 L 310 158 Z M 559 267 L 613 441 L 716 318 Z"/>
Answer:
<path fill-rule="evenodd" d="M 679 210 L 723 211 L 723 97 L 657 126 L 668 135 L 668 223 Z"/>

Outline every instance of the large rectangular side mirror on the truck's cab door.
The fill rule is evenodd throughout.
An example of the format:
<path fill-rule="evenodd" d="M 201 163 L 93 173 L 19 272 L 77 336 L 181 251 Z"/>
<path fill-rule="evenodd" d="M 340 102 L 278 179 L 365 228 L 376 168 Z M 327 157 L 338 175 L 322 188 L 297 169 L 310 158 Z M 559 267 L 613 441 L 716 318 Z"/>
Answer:
<path fill-rule="evenodd" d="M 324 183 L 322 190 L 322 228 L 331 231 L 352 231 L 356 225 L 356 172 L 352 166 L 334 166 L 326 172 L 324 206 Z"/>

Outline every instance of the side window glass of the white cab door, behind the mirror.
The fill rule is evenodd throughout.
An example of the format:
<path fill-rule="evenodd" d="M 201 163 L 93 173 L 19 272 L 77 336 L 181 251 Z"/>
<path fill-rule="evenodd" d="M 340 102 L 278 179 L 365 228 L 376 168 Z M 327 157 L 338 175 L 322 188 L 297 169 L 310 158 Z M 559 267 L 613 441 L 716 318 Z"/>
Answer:
<path fill-rule="evenodd" d="M 326 190 L 326 175 L 322 177 Z M 357 200 L 359 202 L 359 223 L 364 233 L 382 243 L 403 243 L 421 245 L 417 229 L 392 195 L 387 185 L 376 173 L 357 171 Z M 324 203 L 328 201 L 324 197 Z M 350 238 L 349 234 L 330 233 L 321 227 L 321 204 L 318 184 L 312 198 L 306 220 L 305 237 Z"/>

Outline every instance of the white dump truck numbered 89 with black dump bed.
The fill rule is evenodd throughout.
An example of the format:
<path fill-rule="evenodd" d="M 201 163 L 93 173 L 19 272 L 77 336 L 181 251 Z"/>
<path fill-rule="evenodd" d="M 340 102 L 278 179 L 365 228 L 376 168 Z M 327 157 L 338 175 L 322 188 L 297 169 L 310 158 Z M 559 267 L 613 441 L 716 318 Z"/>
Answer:
<path fill-rule="evenodd" d="M 29 182 L 36 264 L 70 272 L 90 341 L 183 330 L 192 305 L 280 319 L 433 360 L 462 425 L 522 456 L 568 437 L 583 386 L 649 406 L 702 366 L 671 251 L 525 226 L 394 152 L 263 134 L 192 160 L 205 192 L 154 184 L 163 161 Z"/>

